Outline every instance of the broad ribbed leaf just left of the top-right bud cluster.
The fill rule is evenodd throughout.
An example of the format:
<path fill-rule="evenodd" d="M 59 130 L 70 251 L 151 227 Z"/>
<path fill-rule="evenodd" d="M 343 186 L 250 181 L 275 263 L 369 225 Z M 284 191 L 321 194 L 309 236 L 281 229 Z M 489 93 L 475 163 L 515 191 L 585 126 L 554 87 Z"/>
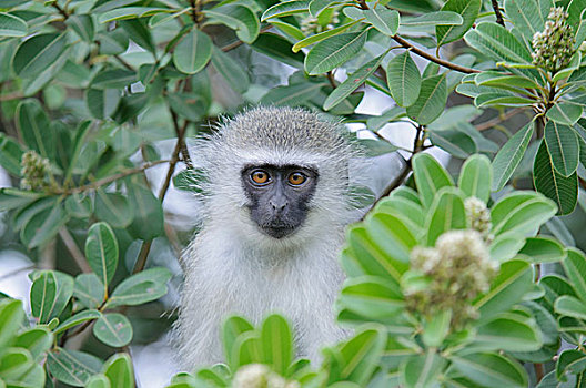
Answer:
<path fill-rule="evenodd" d="M 501 24 L 482 22 L 464 35 L 468 45 L 495 61 L 531 63 L 527 49 Z"/>

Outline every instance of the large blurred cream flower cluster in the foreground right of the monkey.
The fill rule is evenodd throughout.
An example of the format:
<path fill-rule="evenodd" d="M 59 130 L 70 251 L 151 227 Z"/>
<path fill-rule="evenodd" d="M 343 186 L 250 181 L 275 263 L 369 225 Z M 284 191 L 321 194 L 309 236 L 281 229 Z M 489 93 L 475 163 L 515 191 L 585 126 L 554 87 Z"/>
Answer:
<path fill-rule="evenodd" d="M 477 317 L 471 300 L 491 287 L 498 264 L 477 231 L 449 231 L 437 238 L 435 247 L 415 247 L 411 269 L 428 279 L 425 287 L 405 292 L 407 308 L 423 316 L 452 310 L 451 326 L 462 328 Z"/>

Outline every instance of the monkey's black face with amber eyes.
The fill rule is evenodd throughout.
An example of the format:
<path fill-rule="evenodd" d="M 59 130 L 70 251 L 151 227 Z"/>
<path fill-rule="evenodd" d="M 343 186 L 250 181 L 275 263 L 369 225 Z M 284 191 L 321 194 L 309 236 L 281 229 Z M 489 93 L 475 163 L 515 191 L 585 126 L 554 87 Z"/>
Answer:
<path fill-rule="evenodd" d="M 242 170 L 252 219 L 274 238 L 295 232 L 307 216 L 317 171 L 296 165 L 251 165 Z"/>

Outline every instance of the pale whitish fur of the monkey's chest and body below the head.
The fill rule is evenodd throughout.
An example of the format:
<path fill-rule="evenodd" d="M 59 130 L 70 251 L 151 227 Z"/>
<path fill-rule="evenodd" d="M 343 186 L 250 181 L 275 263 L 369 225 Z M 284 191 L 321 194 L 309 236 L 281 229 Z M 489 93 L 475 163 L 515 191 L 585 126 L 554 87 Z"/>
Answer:
<path fill-rule="evenodd" d="M 182 366 L 189 370 L 223 361 L 220 328 L 234 314 L 255 325 L 271 313 L 284 315 L 292 323 L 297 355 L 313 360 L 321 347 L 343 338 L 333 312 L 344 278 L 337 264 L 343 228 L 333 232 L 332 238 L 303 247 L 256 247 L 233 238 L 230 229 L 199 235 L 183 255 L 188 270 L 178 320 Z"/>

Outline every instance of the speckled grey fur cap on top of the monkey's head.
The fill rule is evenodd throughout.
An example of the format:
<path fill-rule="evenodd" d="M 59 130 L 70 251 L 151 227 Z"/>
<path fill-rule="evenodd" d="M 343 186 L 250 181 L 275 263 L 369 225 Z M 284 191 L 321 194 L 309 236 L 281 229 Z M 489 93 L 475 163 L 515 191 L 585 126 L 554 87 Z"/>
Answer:
<path fill-rule="evenodd" d="M 348 144 L 337 123 L 293 108 L 261 106 L 245 111 L 221 130 L 230 147 L 264 150 L 306 150 L 336 153 Z"/>

